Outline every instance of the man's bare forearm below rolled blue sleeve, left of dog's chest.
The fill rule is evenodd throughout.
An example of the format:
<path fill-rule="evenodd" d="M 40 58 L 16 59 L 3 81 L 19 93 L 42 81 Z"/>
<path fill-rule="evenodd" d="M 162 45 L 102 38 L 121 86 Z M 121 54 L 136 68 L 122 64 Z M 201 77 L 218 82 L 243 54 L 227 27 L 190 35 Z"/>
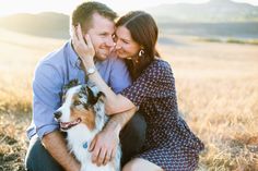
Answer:
<path fill-rule="evenodd" d="M 59 131 L 45 135 L 42 139 L 44 147 L 67 171 L 79 171 L 80 164 L 68 151 L 66 141 Z"/>

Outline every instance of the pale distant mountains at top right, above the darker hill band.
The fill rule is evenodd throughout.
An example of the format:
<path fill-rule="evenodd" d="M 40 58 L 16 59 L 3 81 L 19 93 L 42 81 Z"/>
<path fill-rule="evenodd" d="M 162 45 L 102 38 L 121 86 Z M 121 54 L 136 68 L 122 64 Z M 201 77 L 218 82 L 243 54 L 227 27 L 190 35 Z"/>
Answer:
<path fill-rule="evenodd" d="M 174 22 L 257 22 L 258 7 L 231 0 L 210 0 L 207 3 L 161 4 L 148 10 L 160 23 Z"/>

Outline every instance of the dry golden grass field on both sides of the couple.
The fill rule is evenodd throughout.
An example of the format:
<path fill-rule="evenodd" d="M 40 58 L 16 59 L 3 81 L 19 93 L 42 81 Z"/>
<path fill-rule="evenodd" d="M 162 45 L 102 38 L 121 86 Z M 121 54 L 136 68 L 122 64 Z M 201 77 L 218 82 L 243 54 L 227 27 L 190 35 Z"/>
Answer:
<path fill-rule="evenodd" d="M 199 171 L 258 170 L 258 47 L 166 35 L 179 110 L 204 142 Z M 23 171 L 36 62 L 64 40 L 0 29 L 0 171 Z"/>

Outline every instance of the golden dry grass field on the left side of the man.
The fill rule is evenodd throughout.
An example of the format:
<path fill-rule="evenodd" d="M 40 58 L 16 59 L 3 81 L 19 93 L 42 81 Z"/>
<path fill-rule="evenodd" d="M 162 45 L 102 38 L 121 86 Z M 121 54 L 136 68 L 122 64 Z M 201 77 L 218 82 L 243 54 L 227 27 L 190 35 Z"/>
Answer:
<path fill-rule="evenodd" d="M 0 29 L 0 170 L 24 170 L 34 68 L 63 42 Z"/>

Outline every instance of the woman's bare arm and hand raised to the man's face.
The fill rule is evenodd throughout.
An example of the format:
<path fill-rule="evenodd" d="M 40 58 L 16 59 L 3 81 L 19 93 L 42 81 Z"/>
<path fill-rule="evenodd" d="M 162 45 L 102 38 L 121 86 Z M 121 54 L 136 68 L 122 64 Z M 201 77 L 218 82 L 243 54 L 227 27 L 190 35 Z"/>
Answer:
<path fill-rule="evenodd" d="M 86 39 L 87 45 L 84 41 L 84 38 Z M 83 38 L 81 26 L 79 25 L 73 29 L 72 35 L 72 44 L 73 48 L 77 51 L 78 56 L 81 58 L 85 73 L 87 73 L 87 69 L 95 69 L 93 57 L 95 54 L 91 37 L 89 35 L 85 35 Z M 119 73 L 117 73 L 119 74 Z M 101 91 L 103 91 L 106 95 L 105 99 L 105 108 L 107 114 L 114 114 L 119 113 L 126 110 L 130 110 L 134 108 L 136 106 L 126 97 L 121 95 L 116 95 L 103 81 L 102 76 L 95 69 L 95 72 L 87 75 L 89 78 L 96 84 L 96 86 L 99 88 Z"/>

